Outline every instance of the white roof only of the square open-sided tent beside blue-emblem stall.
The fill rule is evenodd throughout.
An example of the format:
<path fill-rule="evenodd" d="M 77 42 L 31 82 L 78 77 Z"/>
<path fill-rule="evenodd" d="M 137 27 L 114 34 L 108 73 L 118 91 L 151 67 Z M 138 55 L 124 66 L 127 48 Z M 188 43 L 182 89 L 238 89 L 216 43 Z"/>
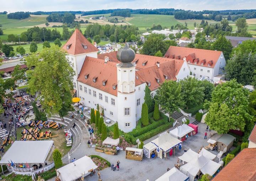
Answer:
<path fill-rule="evenodd" d="M 167 132 L 155 140 L 151 141 L 151 143 L 154 143 L 157 147 L 161 148 L 162 151 L 167 152 L 170 151 L 171 148 L 177 146 L 182 141 L 178 140 L 177 138 L 171 136 Z"/>

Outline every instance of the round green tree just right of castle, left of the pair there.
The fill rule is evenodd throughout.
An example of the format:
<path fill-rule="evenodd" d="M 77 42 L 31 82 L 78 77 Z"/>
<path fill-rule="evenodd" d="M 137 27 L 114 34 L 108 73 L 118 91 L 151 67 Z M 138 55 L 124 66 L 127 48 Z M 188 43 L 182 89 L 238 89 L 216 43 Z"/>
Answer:
<path fill-rule="evenodd" d="M 183 97 L 181 94 L 181 84 L 176 81 L 165 81 L 156 91 L 156 101 L 164 109 L 165 113 L 171 115 L 178 108 L 184 106 Z"/>

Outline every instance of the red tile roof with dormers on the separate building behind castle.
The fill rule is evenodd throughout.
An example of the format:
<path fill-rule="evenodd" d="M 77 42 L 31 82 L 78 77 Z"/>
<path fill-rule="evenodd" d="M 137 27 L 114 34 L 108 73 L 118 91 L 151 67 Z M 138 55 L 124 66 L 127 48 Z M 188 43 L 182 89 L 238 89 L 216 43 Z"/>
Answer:
<path fill-rule="evenodd" d="M 221 53 L 222 53 L 221 51 L 170 46 L 167 52 L 165 53 L 165 57 L 176 58 L 176 59 L 182 59 L 183 57 L 186 57 L 186 61 L 187 62 L 190 61 L 190 63 L 188 62 L 188 64 L 195 64 L 194 60 L 198 59 L 196 63 L 198 66 L 214 68 Z M 205 60 L 203 61 L 204 63 L 203 65 L 201 65 L 202 60 Z M 208 66 L 208 63 L 210 63 L 210 66 Z"/>

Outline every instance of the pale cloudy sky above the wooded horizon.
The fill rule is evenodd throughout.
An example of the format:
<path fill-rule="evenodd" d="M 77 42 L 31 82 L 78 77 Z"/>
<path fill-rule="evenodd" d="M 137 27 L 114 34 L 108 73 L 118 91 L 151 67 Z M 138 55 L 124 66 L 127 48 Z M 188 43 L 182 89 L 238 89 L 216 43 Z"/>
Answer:
<path fill-rule="evenodd" d="M 0 12 L 175 8 L 193 11 L 256 9 L 256 0 L 0 0 Z"/>

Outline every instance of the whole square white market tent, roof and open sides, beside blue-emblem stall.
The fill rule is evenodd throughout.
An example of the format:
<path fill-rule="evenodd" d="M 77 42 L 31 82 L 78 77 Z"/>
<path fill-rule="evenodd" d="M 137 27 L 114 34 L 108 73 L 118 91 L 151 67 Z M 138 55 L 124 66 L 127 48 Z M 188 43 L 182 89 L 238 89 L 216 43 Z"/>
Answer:
<path fill-rule="evenodd" d="M 175 154 L 175 147 L 178 147 L 179 145 L 182 146 L 181 140 L 178 140 L 167 132 L 159 135 L 159 137 L 151 141 L 151 143 L 154 143 L 157 147 L 156 150 L 158 152 L 158 157 L 160 158 L 162 158 L 162 154 L 164 154 L 164 157 L 166 158 L 166 154 L 169 152 L 170 155 L 172 155 L 172 151 Z"/>

